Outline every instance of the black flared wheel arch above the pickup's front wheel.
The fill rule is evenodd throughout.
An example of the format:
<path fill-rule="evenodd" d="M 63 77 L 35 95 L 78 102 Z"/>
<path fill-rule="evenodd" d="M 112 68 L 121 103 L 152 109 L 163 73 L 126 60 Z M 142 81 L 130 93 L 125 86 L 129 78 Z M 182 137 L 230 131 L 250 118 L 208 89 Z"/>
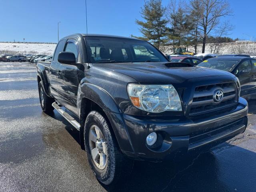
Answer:
<path fill-rule="evenodd" d="M 118 104 L 115 102 L 114 98 L 104 89 L 99 86 L 83 83 L 78 87 L 78 98 L 77 98 L 77 107 L 78 107 L 78 116 L 81 113 L 81 101 L 82 98 L 88 98 L 98 104 L 103 110 L 110 112 L 121 113 Z"/>

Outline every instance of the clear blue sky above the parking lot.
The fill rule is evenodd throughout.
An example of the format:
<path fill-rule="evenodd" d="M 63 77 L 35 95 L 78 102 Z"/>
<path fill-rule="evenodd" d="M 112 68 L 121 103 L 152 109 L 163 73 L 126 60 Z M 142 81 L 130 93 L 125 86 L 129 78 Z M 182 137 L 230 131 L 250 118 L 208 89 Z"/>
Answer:
<path fill-rule="evenodd" d="M 162 0 L 167 5 L 169 0 Z M 235 29 L 231 38 L 256 38 L 255 0 L 229 0 Z M 144 0 L 87 0 L 88 33 L 141 36 L 135 20 L 141 20 Z M 58 42 L 60 38 L 86 33 L 85 0 L 1 0 L 0 42 Z"/>

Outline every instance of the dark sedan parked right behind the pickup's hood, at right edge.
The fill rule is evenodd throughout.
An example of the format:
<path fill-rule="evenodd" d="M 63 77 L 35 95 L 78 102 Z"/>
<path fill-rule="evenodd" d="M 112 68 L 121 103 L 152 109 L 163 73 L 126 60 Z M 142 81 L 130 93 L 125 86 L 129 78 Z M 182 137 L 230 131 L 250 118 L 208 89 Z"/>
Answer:
<path fill-rule="evenodd" d="M 256 59 L 248 57 L 216 57 L 198 64 L 201 67 L 224 70 L 240 80 L 241 96 L 256 93 Z"/>

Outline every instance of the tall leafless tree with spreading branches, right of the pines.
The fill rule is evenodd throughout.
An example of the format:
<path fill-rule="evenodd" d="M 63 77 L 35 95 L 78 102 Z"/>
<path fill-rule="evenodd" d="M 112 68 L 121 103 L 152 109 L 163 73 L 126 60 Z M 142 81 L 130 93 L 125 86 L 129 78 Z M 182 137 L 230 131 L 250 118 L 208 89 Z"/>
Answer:
<path fill-rule="evenodd" d="M 205 51 L 207 36 L 217 30 L 220 18 L 232 14 L 226 0 L 191 0 L 192 9 L 199 10 L 198 30 L 202 32 L 202 53 Z"/>

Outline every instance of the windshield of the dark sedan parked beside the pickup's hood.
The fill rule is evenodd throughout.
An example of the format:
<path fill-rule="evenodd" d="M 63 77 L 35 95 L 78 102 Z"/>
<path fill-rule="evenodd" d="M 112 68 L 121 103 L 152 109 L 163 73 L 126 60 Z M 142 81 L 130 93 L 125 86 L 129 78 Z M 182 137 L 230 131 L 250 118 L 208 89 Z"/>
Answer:
<path fill-rule="evenodd" d="M 232 71 L 234 67 L 238 64 L 240 60 L 234 60 L 234 59 L 220 59 L 220 58 L 212 58 L 208 60 L 204 60 L 197 66 L 200 67 L 207 67 L 207 68 L 214 68 L 219 69 L 223 71 Z"/>

